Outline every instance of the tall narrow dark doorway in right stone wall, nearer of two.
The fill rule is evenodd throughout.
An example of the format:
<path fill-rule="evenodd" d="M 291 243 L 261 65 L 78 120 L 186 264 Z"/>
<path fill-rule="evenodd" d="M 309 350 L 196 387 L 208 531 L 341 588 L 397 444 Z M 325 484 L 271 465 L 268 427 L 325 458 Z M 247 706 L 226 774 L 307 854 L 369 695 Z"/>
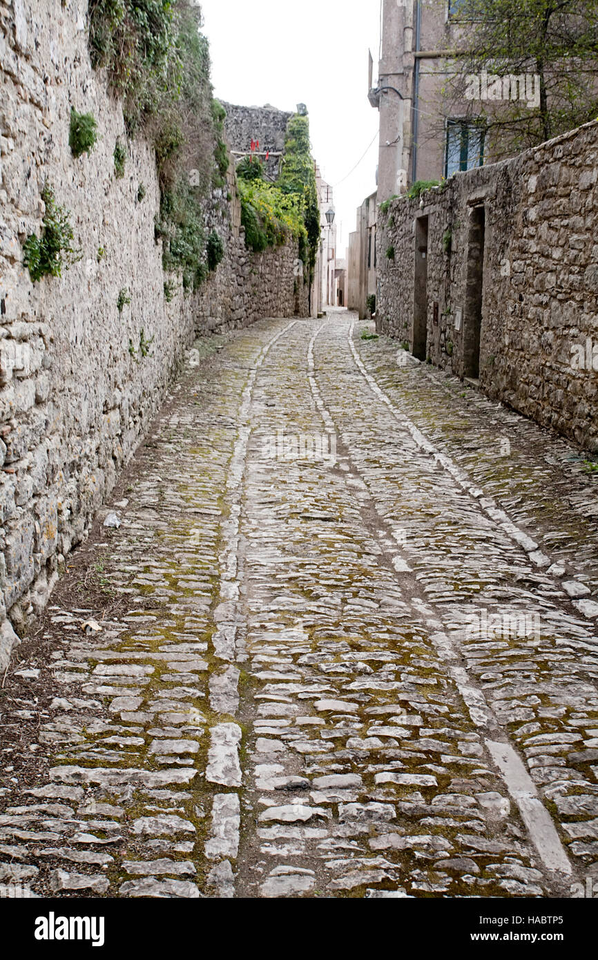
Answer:
<path fill-rule="evenodd" d="M 464 376 L 480 377 L 482 307 L 484 303 L 484 248 L 486 245 L 486 208 L 474 206 L 469 212 L 467 233 L 466 303 L 463 327 Z"/>

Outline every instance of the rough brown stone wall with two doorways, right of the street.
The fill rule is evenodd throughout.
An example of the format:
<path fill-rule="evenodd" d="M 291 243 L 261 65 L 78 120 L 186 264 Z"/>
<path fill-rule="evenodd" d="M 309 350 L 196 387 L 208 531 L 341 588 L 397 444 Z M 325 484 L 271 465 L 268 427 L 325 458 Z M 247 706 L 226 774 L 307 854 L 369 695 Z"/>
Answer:
<path fill-rule="evenodd" d="M 380 331 L 592 451 L 597 180 L 591 123 L 378 220 Z"/>

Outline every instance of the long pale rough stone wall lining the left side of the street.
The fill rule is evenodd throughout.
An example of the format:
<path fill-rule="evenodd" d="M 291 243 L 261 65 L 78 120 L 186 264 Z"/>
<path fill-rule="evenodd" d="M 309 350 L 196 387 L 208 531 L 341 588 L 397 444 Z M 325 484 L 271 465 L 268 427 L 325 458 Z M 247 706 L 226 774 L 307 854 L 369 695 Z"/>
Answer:
<path fill-rule="evenodd" d="M 302 309 L 296 252 L 246 252 L 238 204 L 224 191 L 207 204 L 223 263 L 198 297 L 166 302 L 155 155 L 130 143 L 125 176 L 115 177 L 123 115 L 91 69 L 86 12 L 86 0 L 0 0 L 0 667 L 196 334 Z M 98 142 L 79 159 L 68 145 L 72 107 L 98 122 Z M 70 211 L 82 258 L 34 284 L 22 244 L 40 234 L 46 181 Z M 119 310 L 121 291 L 131 302 Z"/>

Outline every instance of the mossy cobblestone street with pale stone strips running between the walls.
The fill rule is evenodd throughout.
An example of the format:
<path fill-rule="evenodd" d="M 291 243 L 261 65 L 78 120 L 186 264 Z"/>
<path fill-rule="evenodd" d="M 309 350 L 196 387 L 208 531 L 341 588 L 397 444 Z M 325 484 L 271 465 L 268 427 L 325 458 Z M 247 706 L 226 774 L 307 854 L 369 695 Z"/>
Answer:
<path fill-rule="evenodd" d="M 598 479 L 366 328 L 263 321 L 187 365 L 2 678 L 0 882 L 598 882 Z"/>

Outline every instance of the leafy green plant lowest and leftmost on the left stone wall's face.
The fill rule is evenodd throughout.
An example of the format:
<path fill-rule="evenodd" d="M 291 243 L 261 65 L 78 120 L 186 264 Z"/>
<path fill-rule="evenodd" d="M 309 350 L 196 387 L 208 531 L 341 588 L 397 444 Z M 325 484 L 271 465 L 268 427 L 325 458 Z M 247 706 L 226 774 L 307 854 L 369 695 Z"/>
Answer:
<path fill-rule="evenodd" d="M 73 246 L 73 228 L 69 212 L 56 203 L 54 190 L 46 183 L 41 199 L 45 204 L 41 237 L 30 233 L 23 244 L 23 263 L 34 283 L 42 276 L 62 276 L 81 260 L 83 253 Z"/>

